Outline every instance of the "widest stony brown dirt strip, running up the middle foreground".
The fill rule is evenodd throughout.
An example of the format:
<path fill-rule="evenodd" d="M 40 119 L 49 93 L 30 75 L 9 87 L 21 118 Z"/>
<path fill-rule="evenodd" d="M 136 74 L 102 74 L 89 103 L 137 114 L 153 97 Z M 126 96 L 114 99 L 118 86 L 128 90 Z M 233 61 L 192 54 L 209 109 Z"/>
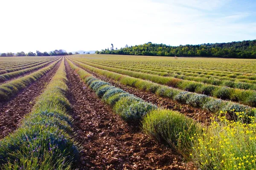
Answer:
<path fill-rule="evenodd" d="M 65 63 L 69 80 L 67 95 L 74 118 L 75 139 L 83 150 L 77 167 L 109 170 L 185 170 L 191 164 L 155 139 L 143 134 L 139 125 L 128 124 L 113 113 L 84 85 Z"/>

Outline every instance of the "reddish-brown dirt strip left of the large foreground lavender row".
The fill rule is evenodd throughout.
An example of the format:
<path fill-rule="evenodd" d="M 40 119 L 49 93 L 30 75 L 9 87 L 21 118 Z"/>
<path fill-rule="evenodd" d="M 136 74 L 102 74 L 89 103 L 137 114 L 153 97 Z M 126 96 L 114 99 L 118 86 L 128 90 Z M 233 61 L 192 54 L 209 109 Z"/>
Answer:
<path fill-rule="evenodd" d="M 9 101 L 0 102 L 0 139 L 14 131 L 23 116 L 31 112 L 35 98 L 39 96 L 50 82 L 61 62 L 56 64 L 43 77 L 20 91 Z"/>

